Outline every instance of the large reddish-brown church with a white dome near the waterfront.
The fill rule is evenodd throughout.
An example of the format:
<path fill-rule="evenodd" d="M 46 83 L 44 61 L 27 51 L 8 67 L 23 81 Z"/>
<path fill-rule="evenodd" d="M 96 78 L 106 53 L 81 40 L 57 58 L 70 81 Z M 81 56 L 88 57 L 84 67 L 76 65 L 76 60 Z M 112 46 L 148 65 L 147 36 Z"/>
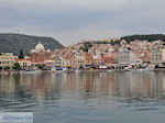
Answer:
<path fill-rule="evenodd" d="M 43 65 L 50 59 L 52 59 L 52 53 L 50 49 L 46 51 L 41 42 L 30 52 L 30 60 L 33 65 Z"/>

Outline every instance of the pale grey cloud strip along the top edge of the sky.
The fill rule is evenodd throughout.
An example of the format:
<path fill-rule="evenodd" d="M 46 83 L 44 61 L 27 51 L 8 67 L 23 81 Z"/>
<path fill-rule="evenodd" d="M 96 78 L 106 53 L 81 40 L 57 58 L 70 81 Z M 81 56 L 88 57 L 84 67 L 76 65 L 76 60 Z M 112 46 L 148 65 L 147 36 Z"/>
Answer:
<path fill-rule="evenodd" d="M 84 9 L 113 9 L 127 3 L 129 0 L 1 0 L 2 5 L 19 7 L 18 9 L 55 9 L 84 8 Z"/>

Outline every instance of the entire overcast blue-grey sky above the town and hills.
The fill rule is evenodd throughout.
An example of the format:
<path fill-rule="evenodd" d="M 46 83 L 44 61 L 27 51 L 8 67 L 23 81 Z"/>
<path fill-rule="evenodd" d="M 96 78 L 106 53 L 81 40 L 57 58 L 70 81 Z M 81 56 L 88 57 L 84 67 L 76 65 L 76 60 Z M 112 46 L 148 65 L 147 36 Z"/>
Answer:
<path fill-rule="evenodd" d="M 52 36 L 63 45 L 165 33 L 164 0 L 0 0 L 0 33 Z"/>

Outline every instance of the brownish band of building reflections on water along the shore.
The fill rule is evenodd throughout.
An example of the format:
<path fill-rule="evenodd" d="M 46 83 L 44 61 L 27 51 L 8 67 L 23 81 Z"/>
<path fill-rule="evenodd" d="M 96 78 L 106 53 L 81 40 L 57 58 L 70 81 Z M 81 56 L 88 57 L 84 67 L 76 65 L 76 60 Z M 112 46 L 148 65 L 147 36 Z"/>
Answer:
<path fill-rule="evenodd" d="M 10 97 L 61 98 L 63 94 L 164 98 L 164 72 L 82 72 L 0 76 Z"/>

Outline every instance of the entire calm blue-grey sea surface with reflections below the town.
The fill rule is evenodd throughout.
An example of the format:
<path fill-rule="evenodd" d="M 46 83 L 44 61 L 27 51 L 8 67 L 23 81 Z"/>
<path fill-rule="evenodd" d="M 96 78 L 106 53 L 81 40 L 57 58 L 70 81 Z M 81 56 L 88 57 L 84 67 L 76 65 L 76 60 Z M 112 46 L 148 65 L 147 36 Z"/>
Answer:
<path fill-rule="evenodd" d="M 34 112 L 34 123 L 165 123 L 165 72 L 0 75 L 0 112 Z"/>

